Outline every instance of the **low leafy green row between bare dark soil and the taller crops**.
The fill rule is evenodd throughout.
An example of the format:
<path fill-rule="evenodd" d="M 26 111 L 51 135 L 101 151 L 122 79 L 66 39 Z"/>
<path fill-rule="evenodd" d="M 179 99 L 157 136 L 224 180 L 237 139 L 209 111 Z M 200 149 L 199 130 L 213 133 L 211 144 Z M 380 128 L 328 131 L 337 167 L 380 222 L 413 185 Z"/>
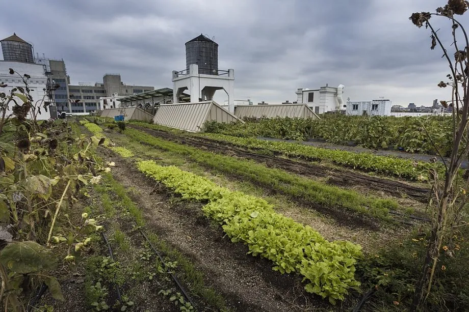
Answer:
<path fill-rule="evenodd" d="M 414 161 L 390 156 L 377 156 L 371 153 L 352 153 L 342 150 L 323 149 L 297 143 L 281 141 L 267 141 L 254 137 L 236 137 L 224 134 L 204 133 L 202 137 L 227 142 L 239 147 L 250 149 L 264 149 L 282 153 L 292 157 L 306 157 L 313 160 L 331 161 L 338 165 L 359 168 L 368 172 L 426 181 L 430 171 L 444 172 L 441 163 Z"/>

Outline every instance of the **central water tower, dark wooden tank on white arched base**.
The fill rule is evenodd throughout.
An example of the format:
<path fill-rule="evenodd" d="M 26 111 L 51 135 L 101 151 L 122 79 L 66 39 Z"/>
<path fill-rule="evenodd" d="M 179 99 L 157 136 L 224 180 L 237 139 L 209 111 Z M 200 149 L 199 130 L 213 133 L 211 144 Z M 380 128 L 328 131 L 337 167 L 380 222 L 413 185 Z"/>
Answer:
<path fill-rule="evenodd" d="M 191 102 L 213 101 L 217 90 L 228 96 L 228 110 L 235 112 L 235 71 L 218 69 L 218 43 L 200 35 L 186 42 L 186 69 L 173 71 L 173 103 L 188 90 Z"/>

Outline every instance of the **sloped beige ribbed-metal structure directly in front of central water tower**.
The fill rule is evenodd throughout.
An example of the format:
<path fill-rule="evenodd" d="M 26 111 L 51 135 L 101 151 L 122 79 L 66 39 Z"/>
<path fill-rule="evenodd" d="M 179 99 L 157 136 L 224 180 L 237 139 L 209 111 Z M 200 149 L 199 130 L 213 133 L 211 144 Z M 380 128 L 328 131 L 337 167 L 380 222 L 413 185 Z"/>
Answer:
<path fill-rule="evenodd" d="M 206 121 L 243 122 L 214 101 L 160 105 L 153 123 L 198 132 Z"/>

